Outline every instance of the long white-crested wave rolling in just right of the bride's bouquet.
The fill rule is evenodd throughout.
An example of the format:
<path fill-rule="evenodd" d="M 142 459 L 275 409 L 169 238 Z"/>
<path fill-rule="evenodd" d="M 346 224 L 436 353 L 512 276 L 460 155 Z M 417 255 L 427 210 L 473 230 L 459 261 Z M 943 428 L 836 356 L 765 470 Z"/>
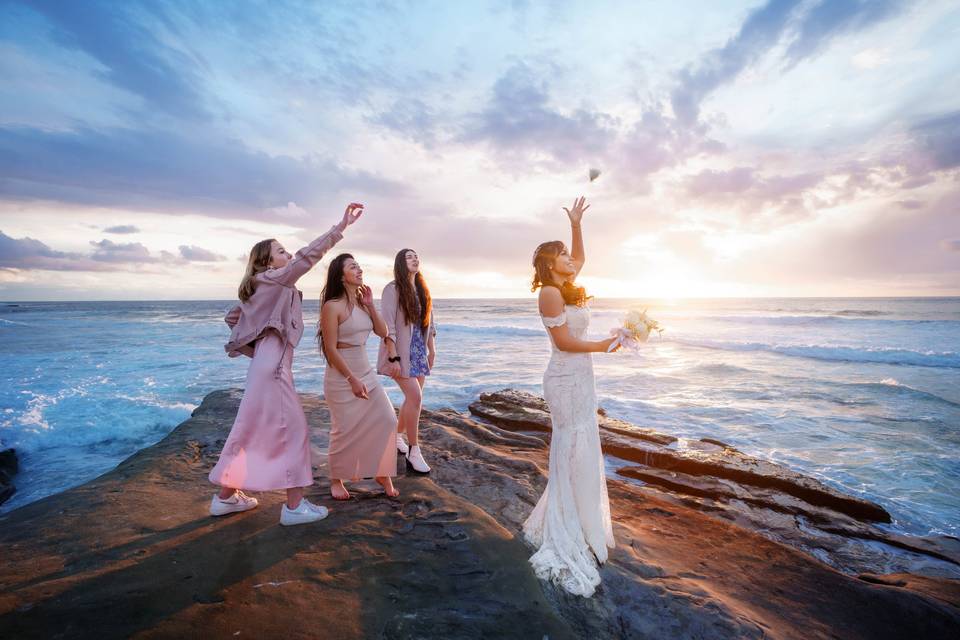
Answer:
<path fill-rule="evenodd" d="M 764 342 L 733 342 L 666 337 L 664 340 L 693 347 L 723 351 L 766 351 L 797 358 L 831 362 L 868 362 L 960 369 L 960 353 L 954 351 L 910 351 L 907 349 L 840 347 L 826 345 L 785 345 Z"/>

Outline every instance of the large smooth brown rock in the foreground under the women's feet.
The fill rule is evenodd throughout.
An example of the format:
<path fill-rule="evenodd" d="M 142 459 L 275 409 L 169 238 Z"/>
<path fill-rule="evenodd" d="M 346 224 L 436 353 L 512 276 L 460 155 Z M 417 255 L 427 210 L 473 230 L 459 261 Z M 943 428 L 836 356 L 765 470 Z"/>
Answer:
<path fill-rule="evenodd" d="M 317 464 L 308 495 L 330 517 L 280 527 L 277 492 L 210 518 L 206 474 L 239 399 L 212 393 L 110 473 L 0 516 L 0 637 L 856 640 L 952 638 L 960 624 L 957 581 L 837 571 L 731 506 L 776 501 L 774 488 L 727 478 L 715 478 L 727 497 L 611 478 L 617 548 L 596 595 L 570 596 L 534 578 L 520 535 L 546 485 L 549 434 L 452 410 L 424 412 L 430 476 L 399 478 L 395 500 L 357 483 L 341 503 L 325 479 L 329 414 L 305 394 Z M 826 509 L 781 495 L 784 509 Z"/>

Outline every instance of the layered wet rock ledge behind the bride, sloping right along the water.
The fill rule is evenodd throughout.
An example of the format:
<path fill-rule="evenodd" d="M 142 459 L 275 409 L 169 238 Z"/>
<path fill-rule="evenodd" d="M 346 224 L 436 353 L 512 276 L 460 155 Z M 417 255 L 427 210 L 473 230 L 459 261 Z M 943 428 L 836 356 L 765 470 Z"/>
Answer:
<path fill-rule="evenodd" d="M 543 399 L 512 389 L 481 394 L 470 412 L 520 433 L 548 434 L 551 428 Z M 890 514 L 874 502 L 717 440 L 679 441 L 602 410 L 598 421 L 603 451 L 619 467 L 618 475 L 682 504 L 722 515 L 849 573 L 897 569 L 960 578 L 960 541 L 904 536 L 874 526 L 890 522 Z"/>

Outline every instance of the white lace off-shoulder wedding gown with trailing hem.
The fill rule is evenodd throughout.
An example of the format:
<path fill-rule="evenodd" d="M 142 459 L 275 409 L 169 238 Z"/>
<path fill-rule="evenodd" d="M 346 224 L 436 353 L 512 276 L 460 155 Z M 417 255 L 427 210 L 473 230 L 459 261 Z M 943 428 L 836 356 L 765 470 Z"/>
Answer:
<path fill-rule="evenodd" d="M 590 310 L 567 305 L 561 315 L 541 319 L 545 327 L 566 323 L 570 334 L 582 339 Z M 597 561 L 606 562 L 607 547 L 614 546 L 593 358 L 590 353 L 560 351 L 552 336 L 550 344 L 550 363 L 543 374 L 543 395 L 553 422 L 549 477 L 523 532 L 538 547 L 530 558 L 538 578 L 589 597 L 600 584 Z"/>

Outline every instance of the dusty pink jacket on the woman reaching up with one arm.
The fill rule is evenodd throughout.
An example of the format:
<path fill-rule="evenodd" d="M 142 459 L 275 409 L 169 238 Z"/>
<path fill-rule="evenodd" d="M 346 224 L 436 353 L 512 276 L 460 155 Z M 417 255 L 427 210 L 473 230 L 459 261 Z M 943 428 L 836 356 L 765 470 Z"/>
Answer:
<path fill-rule="evenodd" d="M 254 343 L 265 331 L 273 329 L 286 347 L 296 348 L 303 336 L 303 292 L 297 280 L 343 239 L 343 223 L 308 244 L 280 269 L 258 273 L 256 289 L 246 302 L 231 309 L 224 321 L 230 326 L 230 341 L 224 349 L 231 358 L 241 354 L 253 357 Z M 279 365 L 278 365 L 279 368 Z"/>

